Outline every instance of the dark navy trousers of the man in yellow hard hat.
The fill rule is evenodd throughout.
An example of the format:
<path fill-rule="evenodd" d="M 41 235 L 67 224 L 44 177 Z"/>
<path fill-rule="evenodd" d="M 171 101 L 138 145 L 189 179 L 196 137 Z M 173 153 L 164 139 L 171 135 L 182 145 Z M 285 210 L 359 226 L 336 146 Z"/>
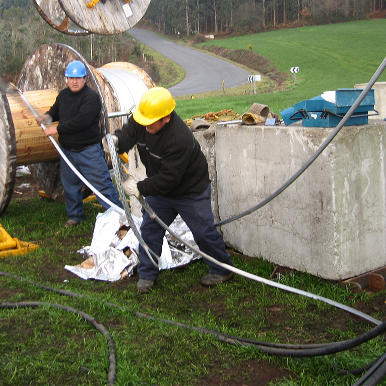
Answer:
<path fill-rule="evenodd" d="M 224 240 L 214 225 L 210 184 L 201 194 L 190 194 L 175 198 L 148 196 L 146 201 L 168 226 L 179 214 L 189 227 L 201 251 L 221 263 L 233 266 L 230 255 L 225 248 Z M 160 256 L 165 230 L 155 220 L 152 220 L 147 212 L 142 210 L 142 213 L 142 237 L 149 248 Z M 156 280 L 159 273 L 158 268 L 150 261 L 141 245 L 139 247 L 139 259 L 138 274 L 140 279 Z M 211 274 L 228 275 L 230 273 L 215 263 L 207 261 L 207 264 L 210 267 L 209 273 Z"/>

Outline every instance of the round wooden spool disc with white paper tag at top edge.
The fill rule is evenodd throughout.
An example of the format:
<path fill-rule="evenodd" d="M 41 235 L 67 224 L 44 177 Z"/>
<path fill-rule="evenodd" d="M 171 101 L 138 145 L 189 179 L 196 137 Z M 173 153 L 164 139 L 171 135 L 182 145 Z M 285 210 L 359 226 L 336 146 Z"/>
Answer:
<path fill-rule="evenodd" d="M 78 26 L 100 35 L 122 33 L 134 27 L 144 16 L 150 0 L 100 1 L 93 9 L 87 7 L 90 0 L 58 0 L 66 15 Z M 126 16 L 124 8 L 130 9 L 131 16 Z"/>

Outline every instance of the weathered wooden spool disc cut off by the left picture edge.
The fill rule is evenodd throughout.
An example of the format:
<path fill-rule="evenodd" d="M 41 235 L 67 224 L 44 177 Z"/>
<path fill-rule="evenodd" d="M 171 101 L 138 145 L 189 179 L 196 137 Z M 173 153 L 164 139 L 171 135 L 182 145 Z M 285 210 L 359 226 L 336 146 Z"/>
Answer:
<path fill-rule="evenodd" d="M 16 177 L 16 139 L 6 93 L 0 88 L 0 216 L 6 211 Z"/>

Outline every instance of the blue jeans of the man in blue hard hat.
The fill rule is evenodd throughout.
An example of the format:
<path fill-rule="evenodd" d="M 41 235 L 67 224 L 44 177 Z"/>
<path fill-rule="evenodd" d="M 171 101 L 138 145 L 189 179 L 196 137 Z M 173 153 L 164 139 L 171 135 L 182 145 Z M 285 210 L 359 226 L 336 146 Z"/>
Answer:
<path fill-rule="evenodd" d="M 104 160 L 102 148 L 99 143 L 80 152 L 67 150 L 60 146 L 76 169 L 107 199 L 122 207 L 115 186 L 111 181 L 108 166 Z M 60 177 L 65 189 L 66 210 L 69 218 L 80 223 L 85 215 L 83 213 L 82 187 L 83 181 L 71 170 L 66 161 L 60 157 Z M 99 199 L 104 209 L 110 205 Z"/>

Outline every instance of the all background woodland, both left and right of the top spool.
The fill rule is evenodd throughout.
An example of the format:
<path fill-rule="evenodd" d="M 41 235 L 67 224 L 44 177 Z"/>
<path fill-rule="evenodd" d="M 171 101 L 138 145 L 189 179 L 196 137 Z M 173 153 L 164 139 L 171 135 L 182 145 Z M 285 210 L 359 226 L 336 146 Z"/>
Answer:
<path fill-rule="evenodd" d="M 83 0 L 81 0 L 83 1 Z M 85 0 L 86 1 L 86 0 Z M 140 24 L 200 42 L 204 35 L 246 35 L 279 28 L 386 17 L 386 0 L 151 0 Z M 26 58 L 39 46 L 74 47 L 94 67 L 128 61 L 157 83 L 157 65 L 143 60 L 143 46 L 126 33 L 73 36 L 49 26 L 32 0 L 0 0 L 0 77 L 16 82 Z"/>

